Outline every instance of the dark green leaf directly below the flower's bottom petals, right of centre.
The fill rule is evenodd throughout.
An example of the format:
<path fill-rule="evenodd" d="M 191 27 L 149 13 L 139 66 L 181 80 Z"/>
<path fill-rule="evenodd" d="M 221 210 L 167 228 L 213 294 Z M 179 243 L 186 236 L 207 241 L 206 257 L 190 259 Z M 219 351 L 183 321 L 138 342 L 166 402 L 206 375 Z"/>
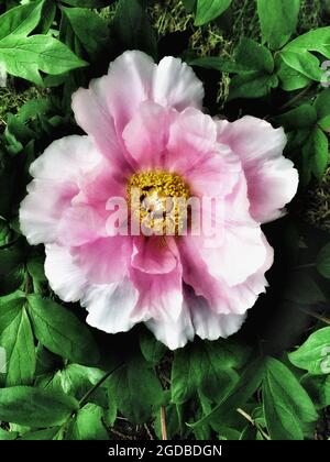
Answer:
<path fill-rule="evenodd" d="M 200 392 L 221 400 L 238 382 L 232 354 L 221 344 L 199 342 L 175 352 L 172 402 L 180 405 Z"/>

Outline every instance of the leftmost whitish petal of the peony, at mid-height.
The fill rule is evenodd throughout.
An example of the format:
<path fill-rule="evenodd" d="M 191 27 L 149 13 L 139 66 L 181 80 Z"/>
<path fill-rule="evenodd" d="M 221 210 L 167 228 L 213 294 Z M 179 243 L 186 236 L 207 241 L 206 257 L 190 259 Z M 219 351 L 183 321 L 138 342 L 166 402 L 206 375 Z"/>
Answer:
<path fill-rule="evenodd" d="M 20 227 L 30 244 L 55 242 L 59 219 L 78 193 L 74 183 L 34 179 L 20 207 Z"/>

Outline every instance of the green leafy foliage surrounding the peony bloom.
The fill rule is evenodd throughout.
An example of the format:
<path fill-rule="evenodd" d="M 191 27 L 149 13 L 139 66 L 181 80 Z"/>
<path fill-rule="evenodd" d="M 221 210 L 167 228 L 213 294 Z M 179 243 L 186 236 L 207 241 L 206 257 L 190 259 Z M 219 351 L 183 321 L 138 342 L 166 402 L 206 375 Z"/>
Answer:
<path fill-rule="evenodd" d="M 329 200 L 330 2 L 23 3 L 0 4 L 0 439 L 161 439 L 161 415 L 175 439 L 329 438 L 330 238 L 316 217 Z M 43 248 L 20 233 L 30 163 L 79 133 L 72 92 L 129 48 L 193 65 L 212 114 L 250 113 L 287 132 L 299 193 L 264 227 L 276 254 L 271 287 L 227 341 L 170 353 L 141 326 L 95 331 L 52 294 Z"/>

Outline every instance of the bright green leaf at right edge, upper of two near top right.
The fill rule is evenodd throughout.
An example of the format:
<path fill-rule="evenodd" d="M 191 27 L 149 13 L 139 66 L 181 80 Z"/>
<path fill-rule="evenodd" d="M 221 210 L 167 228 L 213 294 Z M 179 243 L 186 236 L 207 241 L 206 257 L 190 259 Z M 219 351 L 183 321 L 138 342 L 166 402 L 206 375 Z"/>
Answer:
<path fill-rule="evenodd" d="M 307 32 L 288 43 L 284 50 L 298 53 L 308 50 L 330 58 L 330 26 Z"/>

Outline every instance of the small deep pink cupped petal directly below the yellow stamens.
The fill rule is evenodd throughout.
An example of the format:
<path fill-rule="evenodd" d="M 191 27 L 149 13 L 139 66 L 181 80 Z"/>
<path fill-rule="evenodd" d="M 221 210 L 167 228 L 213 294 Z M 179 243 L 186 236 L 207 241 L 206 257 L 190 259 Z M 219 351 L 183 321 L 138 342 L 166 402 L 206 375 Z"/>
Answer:
<path fill-rule="evenodd" d="M 132 266 L 143 273 L 170 273 L 178 264 L 178 251 L 170 237 L 134 238 Z"/>

